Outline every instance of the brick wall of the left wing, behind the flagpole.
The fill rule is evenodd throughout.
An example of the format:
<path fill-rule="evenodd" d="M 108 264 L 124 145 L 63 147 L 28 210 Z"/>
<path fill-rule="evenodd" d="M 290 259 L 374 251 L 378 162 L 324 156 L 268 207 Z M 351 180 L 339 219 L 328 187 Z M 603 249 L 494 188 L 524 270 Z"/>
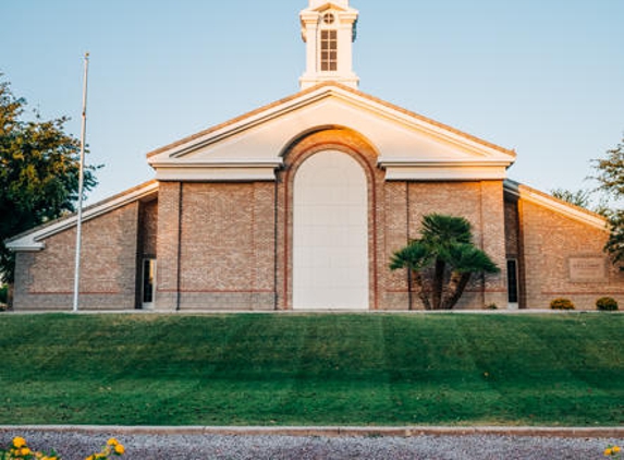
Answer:
<path fill-rule="evenodd" d="M 137 220 L 133 203 L 83 223 L 81 310 L 134 308 Z M 72 308 L 75 239 L 72 228 L 17 254 L 15 310 Z"/>

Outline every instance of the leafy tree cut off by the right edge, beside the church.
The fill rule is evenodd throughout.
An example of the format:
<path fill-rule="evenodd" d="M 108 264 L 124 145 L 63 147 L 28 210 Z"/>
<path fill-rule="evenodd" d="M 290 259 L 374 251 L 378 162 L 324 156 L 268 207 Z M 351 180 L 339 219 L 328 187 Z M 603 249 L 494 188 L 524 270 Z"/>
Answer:
<path fill-rule="evenodd" d="M 607 150 L 607 158 L 595 161 L 598 175 L 595 179 L 604 192 L 615 203 L 624 199 L 624 140 L 615 148 Z M 611 209 L 608 214 L 611 234 L 604 251 L 611 254 L 615 265 L 624 270 L 624 210 Z"/>

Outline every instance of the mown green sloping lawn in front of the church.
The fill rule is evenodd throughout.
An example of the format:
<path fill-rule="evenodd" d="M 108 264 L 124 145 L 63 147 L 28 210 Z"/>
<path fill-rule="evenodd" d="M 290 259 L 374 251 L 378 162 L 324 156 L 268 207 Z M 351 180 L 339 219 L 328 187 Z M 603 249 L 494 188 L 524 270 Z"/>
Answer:
<path fill-rule="evenodd" d="M 0 328 L 0 424 L 624 424 L 621 314 L 1 314 Z"/>

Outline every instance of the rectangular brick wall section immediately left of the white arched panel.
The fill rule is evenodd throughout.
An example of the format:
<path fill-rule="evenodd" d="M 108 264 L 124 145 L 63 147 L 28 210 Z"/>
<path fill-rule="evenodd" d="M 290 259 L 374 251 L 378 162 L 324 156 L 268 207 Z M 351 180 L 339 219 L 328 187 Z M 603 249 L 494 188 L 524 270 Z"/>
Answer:
<path fill-rule="evenodd" d="M 184 184 L 180 310 L 274 308 L 273 190 Z"/>

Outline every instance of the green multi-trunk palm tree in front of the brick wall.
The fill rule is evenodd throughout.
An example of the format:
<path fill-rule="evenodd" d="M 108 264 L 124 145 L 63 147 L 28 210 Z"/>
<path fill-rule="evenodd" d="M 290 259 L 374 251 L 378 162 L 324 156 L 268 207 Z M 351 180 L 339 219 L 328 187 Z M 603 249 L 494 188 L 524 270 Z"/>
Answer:
<path fill-rule="evenodd" d="M 500 271 L 474 245 L 470 222 L 463 217 L 430 214 L 423 218 L 420 233 L 393 254 L 390 269 L 409 270 L 426 310 L 452 310 L 474 274 Z"/>

